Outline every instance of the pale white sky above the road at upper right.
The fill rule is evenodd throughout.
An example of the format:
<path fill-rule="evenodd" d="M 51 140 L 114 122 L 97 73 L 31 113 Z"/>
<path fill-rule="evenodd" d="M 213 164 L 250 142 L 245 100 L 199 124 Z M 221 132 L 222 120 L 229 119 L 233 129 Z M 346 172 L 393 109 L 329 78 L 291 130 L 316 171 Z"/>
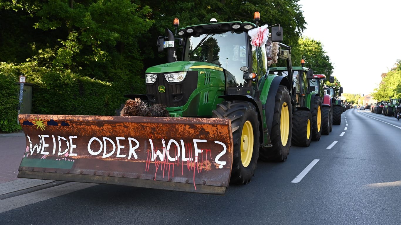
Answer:
<path fill-rule="evenodd" d="M 401 59 L 401 0 L 300 0 L 298 4 L 308 23 L 303 36 L 322 43 L 344 93 L 372 93 L 381 74 Z"/>

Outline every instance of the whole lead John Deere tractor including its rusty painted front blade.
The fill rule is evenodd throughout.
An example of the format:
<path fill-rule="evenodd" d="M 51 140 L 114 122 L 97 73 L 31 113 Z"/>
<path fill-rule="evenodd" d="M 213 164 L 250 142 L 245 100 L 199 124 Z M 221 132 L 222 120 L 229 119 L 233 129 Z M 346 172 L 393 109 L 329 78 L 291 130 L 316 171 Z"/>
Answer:
<path fill-rule="evenodd" d="M 310 124 L 320 99 L 295 100 L 293 76 L 269 72 L 282 58 L 293 74 L 290 47 L 279 24 L 259 19 L 180 29 L 175 19 L 178 36 L 166 29 L 157 41 L 168 62 L 146 70 L 146 94 L 126 94 L 122 116 L 21 114 L 18 177 L 223 195 L 251 180 L 258 159 L 285 161 L 293 113 Z"/>

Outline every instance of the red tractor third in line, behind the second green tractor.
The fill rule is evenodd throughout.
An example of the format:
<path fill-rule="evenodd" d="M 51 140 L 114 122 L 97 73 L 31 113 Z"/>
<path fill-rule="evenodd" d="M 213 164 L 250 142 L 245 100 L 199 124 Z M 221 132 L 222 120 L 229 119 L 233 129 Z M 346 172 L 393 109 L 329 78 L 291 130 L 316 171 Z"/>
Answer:
<path fill-rule="evenodd" d="M 322 100 L 322 135 L 328 135 L 333 130 L 332 96 L 324 90 L 326 75 L 310 73 L 308 76 L 310 90 L 316 91 Z"/>

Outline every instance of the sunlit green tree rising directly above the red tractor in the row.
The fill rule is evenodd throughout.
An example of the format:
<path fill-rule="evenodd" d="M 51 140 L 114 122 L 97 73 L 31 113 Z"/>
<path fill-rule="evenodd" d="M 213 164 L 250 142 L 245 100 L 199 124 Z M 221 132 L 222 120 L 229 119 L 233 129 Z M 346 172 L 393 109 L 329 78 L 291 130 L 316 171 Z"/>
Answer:
<path fill-rule="evenodd" d="M 325 74 L 328 78 L 334 67 L 326 55 L 327 52 L 323 50 L 322 43 L 308 37 L 300 38 L 298 43 L 299 51 L 305 60 L 305 66 L 314 70 L 315 74 Z"/>

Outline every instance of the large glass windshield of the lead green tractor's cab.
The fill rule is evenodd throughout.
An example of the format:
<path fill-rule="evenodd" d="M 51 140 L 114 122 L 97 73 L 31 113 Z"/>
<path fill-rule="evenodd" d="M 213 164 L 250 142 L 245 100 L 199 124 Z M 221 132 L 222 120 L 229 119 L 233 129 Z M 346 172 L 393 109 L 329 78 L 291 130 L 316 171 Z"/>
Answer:
<path fill-rule="evenodd" d="M 247 66 L 247 34 L 225 33 L 190 36 L 186 40 L 184 60 L 209 62 L 223 67 L 235 76 L 237 85 L 243 82 L 241 66 Z"/>

